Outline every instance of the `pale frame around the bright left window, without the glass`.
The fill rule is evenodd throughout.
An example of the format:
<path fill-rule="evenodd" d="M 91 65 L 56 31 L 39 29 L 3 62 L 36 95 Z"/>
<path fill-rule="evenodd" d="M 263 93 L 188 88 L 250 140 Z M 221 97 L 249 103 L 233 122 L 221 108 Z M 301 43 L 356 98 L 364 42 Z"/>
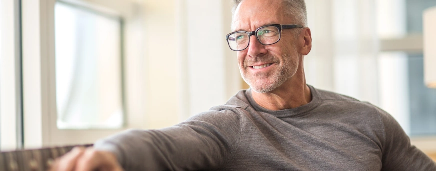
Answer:
<path fill-rule="evenodd" d="M 59 0 L 60 1 L 60 0 Z M 124 49 L 122 74 L 124 84 L 131 86 L 141 73 L 130 69 L 137 68 L 142 57 L 137 46 L 141 39 L 129 32 L 141 29 L 140 12 L 133 1 L 126 0 L 61 0 L 63 2 L 84 6 L 89 9 L 113 13 L 124 21 L 121 42 Z M 130 127 L 143 127 L 143 107 L 125 105 L 125 126 L 120 129 L 61 130 L 57 128 L 56 90 L 55 90 L 55 48 L 54 48 L 54 5 L 56 0 L 22 0 L 22 35 L 23 35 L 23 124 L 24 147 L 37 148 L 52 145 L 74 145 L 93 143 L 96 140 Z M 134 13 L 136 12 L 136 13 Z M 133 66 L 132 66 L 133 65 Z M 129 67 L 127 67 L 129 66 Z M 141 80 L 139 80 L 141 81 Z M 143 94 L 126 91 L 126 101 L 144 101 Z"/>

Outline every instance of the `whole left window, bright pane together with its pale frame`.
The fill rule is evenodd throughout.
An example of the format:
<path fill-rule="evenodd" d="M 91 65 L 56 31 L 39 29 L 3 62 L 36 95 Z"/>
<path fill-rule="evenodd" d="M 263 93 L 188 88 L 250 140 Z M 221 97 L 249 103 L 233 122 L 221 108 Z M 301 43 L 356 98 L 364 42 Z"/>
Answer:
<path fill-rule="evenodd" d="M 19 1 L 25 11 L 21 13 L 24 147 L 93 143 L 143 125 L 139 105 L 126 105 L 129 117 L 124 117 L 123 97 L 142 105 L 144 95 L 131 88 L 124 95 L 122 77 L 125 70 L 127 86 L 142 83 L 143 76 L 135 72 L 142 57 L 137 45 L 142 41 L 137 32 L 143 29 L 142 15 L 135 10 L 138 4 Z M 124 50 L 128 55 L 121 55 Z"/>

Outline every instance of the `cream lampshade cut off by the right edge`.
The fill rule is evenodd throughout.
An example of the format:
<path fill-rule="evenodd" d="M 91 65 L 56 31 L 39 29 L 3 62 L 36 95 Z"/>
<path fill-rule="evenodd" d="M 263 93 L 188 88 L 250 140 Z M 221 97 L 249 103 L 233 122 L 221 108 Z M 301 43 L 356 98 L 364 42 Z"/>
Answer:
<path fill-rule="evenodd" d="M 423 14 L 424 81 L 427 87 L 436 88 L 436 7 Z"/>

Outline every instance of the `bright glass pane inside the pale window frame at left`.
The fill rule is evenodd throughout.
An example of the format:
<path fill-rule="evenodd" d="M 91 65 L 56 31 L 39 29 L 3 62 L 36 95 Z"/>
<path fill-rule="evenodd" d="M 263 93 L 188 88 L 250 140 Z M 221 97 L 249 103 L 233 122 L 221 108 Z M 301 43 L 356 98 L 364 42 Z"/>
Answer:
<path fill-rule="evenodd" d="M 56 3 L 58 128 L 123 125 L 121 37 L 120 18 Z"/>

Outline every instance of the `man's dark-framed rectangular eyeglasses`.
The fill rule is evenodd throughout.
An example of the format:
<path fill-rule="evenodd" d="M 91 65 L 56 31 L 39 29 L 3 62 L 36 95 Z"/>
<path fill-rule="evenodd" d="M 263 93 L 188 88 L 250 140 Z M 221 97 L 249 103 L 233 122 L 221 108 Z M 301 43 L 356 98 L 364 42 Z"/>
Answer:
<path fill-rule="evenodd" d="M 245 50 L 250 44 L 251 35 L 255 35 L 257 40 L 262 45 L 271 45 L 280 41 L 281 30 L 292 29 L 292 28 L 304 28 L 300 25 L 280 25 L 271 24 L 265 25 L 257 28 L 255 31 L 236 31 L 227 34 L 225 38 L 227 39 L 228 46 L 233 51 Z"/>

